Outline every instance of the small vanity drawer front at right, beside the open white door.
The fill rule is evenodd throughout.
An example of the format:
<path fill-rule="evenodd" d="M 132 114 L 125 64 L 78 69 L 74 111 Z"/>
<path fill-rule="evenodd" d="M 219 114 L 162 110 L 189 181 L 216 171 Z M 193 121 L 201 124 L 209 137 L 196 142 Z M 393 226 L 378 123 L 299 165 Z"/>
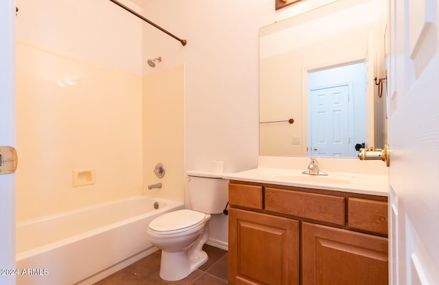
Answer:
<path fill-rule="evenodd" d="M 348 227 L 387 235 L 388 203 L 348 198 Z"/>

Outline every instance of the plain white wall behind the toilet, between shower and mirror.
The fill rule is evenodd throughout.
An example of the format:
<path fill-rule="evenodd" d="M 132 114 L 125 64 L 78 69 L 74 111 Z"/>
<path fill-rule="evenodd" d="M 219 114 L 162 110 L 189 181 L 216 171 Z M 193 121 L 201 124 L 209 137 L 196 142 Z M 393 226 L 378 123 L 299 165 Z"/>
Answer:
<path fill-rule="evenodd" d="M 257 167 L 259 155 L 259 28 L 334 0 L 307 0 L 274 10 L 274 0 L 140 1 L 142 14 L 180 42 L 143 24 L 143 71 L 185 63 L 185 169 Z M 146 60 L 162 56 L 155 69 Z M 225 205 L 224 205 L 225 206 Z M 228 243 L 227 216 L 211 220 L 211 242 Z"/>

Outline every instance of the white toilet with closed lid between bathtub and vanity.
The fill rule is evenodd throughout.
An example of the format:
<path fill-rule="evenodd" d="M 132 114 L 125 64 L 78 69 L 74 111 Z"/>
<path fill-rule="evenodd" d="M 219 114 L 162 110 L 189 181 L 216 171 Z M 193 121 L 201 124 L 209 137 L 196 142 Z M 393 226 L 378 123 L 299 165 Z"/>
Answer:
<path fill-rule="evenodd" d="M 202 250 L 209 238 L 211 214 L 222 213 L 228 201 L 228 181 L 221 173 L 187 171 L 191 209 L 177 210 L 152 220 L 150 242 L 162 250 L 160 277 L 181 280 L 209 258 Z"/>

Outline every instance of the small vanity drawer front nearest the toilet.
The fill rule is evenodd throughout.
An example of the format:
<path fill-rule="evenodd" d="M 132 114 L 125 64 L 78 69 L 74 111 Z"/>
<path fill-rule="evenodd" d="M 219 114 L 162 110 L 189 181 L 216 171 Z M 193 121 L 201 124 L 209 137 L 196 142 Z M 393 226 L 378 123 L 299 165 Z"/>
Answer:
<path fill-rule="evenodd" d="M 262 186 L 229 183 L 228 203 L 262 210 Z"/>

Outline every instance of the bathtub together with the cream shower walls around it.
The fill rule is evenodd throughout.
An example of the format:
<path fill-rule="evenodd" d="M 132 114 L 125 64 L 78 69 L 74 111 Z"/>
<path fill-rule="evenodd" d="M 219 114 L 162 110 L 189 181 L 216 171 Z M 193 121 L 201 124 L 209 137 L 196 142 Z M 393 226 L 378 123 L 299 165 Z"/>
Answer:
<path fill-rule="evenodd" d="M 141 22 L 110 1 L 17 5 L 16 268 L 38 273 L 17 284 L 92 284 L 184 205 L 184 64 L 144 76 Z"/>

